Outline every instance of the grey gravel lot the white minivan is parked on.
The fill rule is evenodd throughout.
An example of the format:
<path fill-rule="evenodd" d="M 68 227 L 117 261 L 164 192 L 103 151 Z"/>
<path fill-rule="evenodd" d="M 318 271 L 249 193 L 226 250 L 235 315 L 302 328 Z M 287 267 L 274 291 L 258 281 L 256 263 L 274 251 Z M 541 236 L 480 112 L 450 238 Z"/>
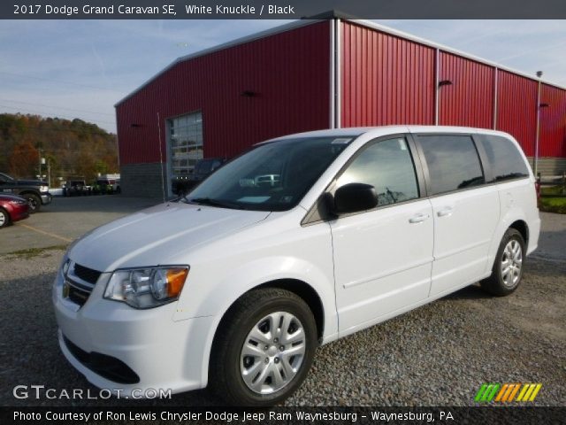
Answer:
<path fill-rule="evenodd" d="M 566 406 L 566 216 L 541 216 L 540 250 L 512 296 L 472 286 L 325 345 L 287 405 L 473 406 L 479 386 L 495 382 L 542 383 L 536 405 Z M 204 390 L 153 402 L 14 398 L 19 384 L 97 393 L 59 352 L 50 286 L 62 256 L 0 255 L 0 405 L 218 404 Z"/>

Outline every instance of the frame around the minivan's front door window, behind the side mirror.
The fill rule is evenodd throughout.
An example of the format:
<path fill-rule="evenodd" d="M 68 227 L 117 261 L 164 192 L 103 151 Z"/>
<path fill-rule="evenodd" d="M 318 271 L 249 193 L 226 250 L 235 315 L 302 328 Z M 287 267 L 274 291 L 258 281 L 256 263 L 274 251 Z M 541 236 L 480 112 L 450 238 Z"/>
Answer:
<path fill-rule="evenodd" d="M 362 135 L 360 135 L 362 136 Z M 391 135 L 381 135 L 379 137 L 373 138 L 371 140 L 369 140 L 366 143 L 363 143 L 362 146 L 360 146 L 358 148 L 358 150 L 356 152 L 354 152 L 354 154 L 352 154 L 352 156 L 350 156 L 350 158 L 348 158 L 348 161 L 346 161 L 346 163 L 340 167 L 340 170 L 338 170 L 338 172 L 336 174 L 334 174 L 333 180 L 328 183 L 328 185 L 325 187 L 325 189 L 322 191 L 322 193 L 320 194 L 319 197 L 317 197 L 317 200 L 314 202 L 313 205 L 310 206 L 309 211 L 305 214 L 305 216 L 302 218 L 301 220 L 301 226 L 310 226 L 313 224 L 318 224 L 321 222 L 326 222 L 329 220 L 336 220 L 336 217 L 330 217 L 327 218 L 325 217 L 324 213 L 321 213 L 319 211 L 319 208 L 324 208 L 324 203 L 325 203 L 325 196 L 327 193 L 330 194 L 334 194 L 334 191 L 337 189 L 336 188 L 336 182 L 338 181 L 338 179 L 340 178 L 340 175 L 342 175 L 346 169 L 348 168 L 348 166 L 350 166 L 350 164 L 352 162 L 354 162 L 356 160 L 356 158 L 362 154 L 363 151 L 365 151 L 366 149 L 369 149 L 371 146 L 373 146 L 376 143 L 379 142 L 385 142 L 386 140 L 391 140 L 391 139 L 395 139 L 395 138 L 403 138 L 405 139 L 405 141 L 407 142 L 408 146 L 409 146 L 409 155 L 410 158 L 413 162 L 413 168 L 415 170 L 415 175 L 417 177 L 417 191 L 418 191 L 418 196 L 412 199 L 408 199 L 406 201 L 402 201 L 402 202 L 396 202 L 394 204 L 387 204 L 387 205 L 378 205 L 375 208 L 372 208 L 371 210 L 365 210 L 365 211 L 361 211 L 361 212 L 357 212 L 357 213 L 348 213 L 348 214 L 341 214 L 340 218 L 344 218 L 344 217 L 349 217 L 352 215 L 357 215 L 357 214 L 363 214 L 363 213 L 371 213 L 373 211 L 377 211 L 377 210 L 381 210 L 381 209 L 385 209 L 385 208 L 391 208 L 393 206 L 397 206 L 397 205 L 404 205 L 404 204 L 409 204 L 410 202 L 416 202 L 416 201 L 420 201 L 422 199 L 425 199 L 428 197 L 428 189 L 426 186 L 426 182 L 424 180 L 424 173 L 423 173 L 423 161 L 421 160 L 421 156 L 419 155 L 418 151 L 417 151 L 417 143 L 415 143 L 414 138 L 412 137 L 412 135 L 410 133 L 394 133 Z M 352 141 L 351 143 L 354 143 L 354 141 Z"/>

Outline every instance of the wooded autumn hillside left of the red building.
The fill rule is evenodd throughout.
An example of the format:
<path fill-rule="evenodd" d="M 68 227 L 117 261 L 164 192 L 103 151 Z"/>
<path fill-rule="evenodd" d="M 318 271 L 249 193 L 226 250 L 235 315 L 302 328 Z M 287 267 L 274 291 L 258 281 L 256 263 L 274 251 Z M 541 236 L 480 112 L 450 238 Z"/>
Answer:
<path fill-rule="evenodd" d="M 0 172 L 17 178 L 35 178 L 39 158 L 50 184 L 81 176 L 88 181 L 98 173 L 119 173 L 116 135 L 83 120 L 42 118 L 37 115 L 0 114 Z"/>

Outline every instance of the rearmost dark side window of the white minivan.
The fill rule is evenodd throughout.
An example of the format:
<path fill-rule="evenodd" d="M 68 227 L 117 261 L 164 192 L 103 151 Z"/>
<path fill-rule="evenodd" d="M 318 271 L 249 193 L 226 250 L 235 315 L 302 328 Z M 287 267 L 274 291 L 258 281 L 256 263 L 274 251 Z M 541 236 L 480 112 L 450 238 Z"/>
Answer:
<path fill-rule="evenodd" d="M 479 135 L 492 169 L 490 182 L 505 182 L 529 176 L 529 169 L 515 143 L 501 135 Z"/>

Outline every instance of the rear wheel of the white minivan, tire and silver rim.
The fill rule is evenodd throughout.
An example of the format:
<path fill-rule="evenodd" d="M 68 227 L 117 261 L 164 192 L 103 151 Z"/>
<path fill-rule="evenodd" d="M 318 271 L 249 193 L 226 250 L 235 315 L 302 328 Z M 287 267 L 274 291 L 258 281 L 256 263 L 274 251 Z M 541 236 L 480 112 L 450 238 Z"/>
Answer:
<path fill-rule="evenodd" d="M 497 297 L 514 292 L 523 278 L 524 252 L 523 236 L 508 228 L 497 250 L 492 275 L 480 282 L 482 289 Z"/>

